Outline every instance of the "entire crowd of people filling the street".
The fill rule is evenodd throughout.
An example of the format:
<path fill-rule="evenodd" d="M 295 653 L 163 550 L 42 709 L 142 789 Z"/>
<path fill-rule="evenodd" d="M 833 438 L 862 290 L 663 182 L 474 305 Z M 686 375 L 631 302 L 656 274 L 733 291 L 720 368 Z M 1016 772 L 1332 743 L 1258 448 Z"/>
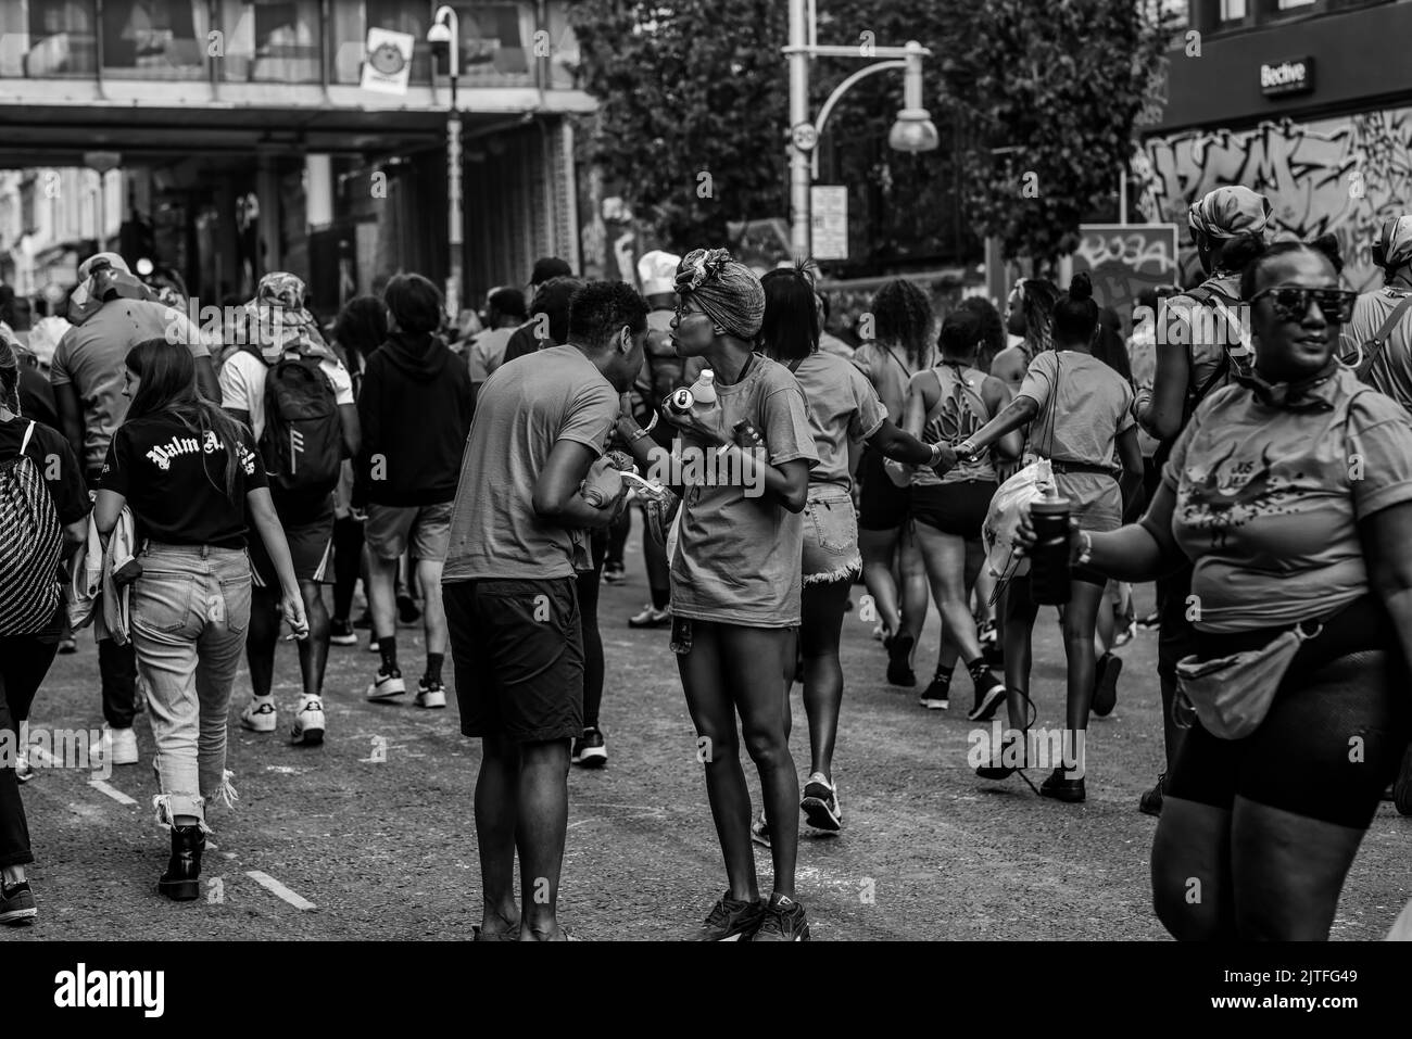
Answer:
<path fill-rule="evenodd" d="M 1004 709 L 1005 740 L 976 768 L 993 782 L 1055 765 L 1028 738 L 1031 638 L 1062 603 L 1079 767 L 1066 755 L 1038 792 L 1076 803 L 1083 734 L 1114 709 L 1114 649 L 1137 625 L 1132 584 L 1155 582 L 1165 761 L 1138 807 L 1159 816 L 1156 915 L 1183 939 L 1327 937 L 1380 802 L 1391 789 L 1412 813 L 1412 215 L 1380 230 L 1385 285 L 1363 295 L 1340 287 L 1332 240 L 1276 241 L 1247 188 L 1207 193 L 1189 223 L 1207 278 L 1139 299 L 1132 329 L 1084 274 L 1021 280 L 1004 315 L 970 296 L 940 319 L 894 278 L 856 350 L 825 332 L 810 265 L 758 275 L 719 248 L 642 257 L 641 291 L 545 258 L 453 329 L 415 274 L 325 328 L 304 284 L 274 272 L 216 337 L 97 254 L 47 378 L 28 322 L 0 322 L 0 524 L 20 545 L 0 562 L 40 575 L 0 583 L 0 726 L 28 720 L 72 625 L 93 623 L 104 750 L 136 762 L 134 717 L 150 714 L 171 831 L 158 888 L 192 899 L 208 812 L 236 796 L 241 654 L 239 724 L 280 731 L 288 628 L 302 689 L 284 731 L 318 745 L 329 647 L 367 627 L 366 696 L 394 700 L 409 692 L 398 623 L 421 621 L 414 702 L 445 707 L 452 686 L 481 747 L 476 937 L 563 939 L 568 772 L 609 757 L 599 587 L 623 579 L 638 514 L 651 601 L 627 623 L 669 630 L 726 868 L 699 937 L 806 940 L 801 816 L 844 829 L 839 647 L 856 586 L 888 683 L 946 710 L 960 661 L 966 717 Z M 1058 583 L 1027 510 L 1011 517 L 1019 566 L 987 565 L 1007 488 L 1036 467 L 1070 528 Z M 1241 704 L 1243 728 L 1210 713 L 1213 683 L 1261 699 Z M 6 923 L 37 915 L 32 774 L 23 758 L 0 769 Z M 753 843 L 772 860 L 768 894 Z"/>

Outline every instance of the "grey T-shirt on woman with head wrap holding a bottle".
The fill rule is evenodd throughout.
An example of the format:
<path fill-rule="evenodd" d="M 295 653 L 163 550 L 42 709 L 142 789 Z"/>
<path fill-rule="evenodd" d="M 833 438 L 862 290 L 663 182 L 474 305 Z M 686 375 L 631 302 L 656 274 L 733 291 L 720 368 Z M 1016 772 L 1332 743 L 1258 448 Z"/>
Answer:
<path fill-rule="evenodd" d="M 789 368 L 755 356 L 746 378 L 716 384 L 723 426 L 743 418 L 765 439 L 770 464 L 818 460 L 803 390 Z M 714 455 L 693 436 L 685 448 Z M 672 613 L 700 621 L 755 628 L 799 623 L 799 553 L 803 517 L 770 494 L 747 497 L 746 487 L 696 483 L 682 498 L 676 555 L 672 558 Z"/>

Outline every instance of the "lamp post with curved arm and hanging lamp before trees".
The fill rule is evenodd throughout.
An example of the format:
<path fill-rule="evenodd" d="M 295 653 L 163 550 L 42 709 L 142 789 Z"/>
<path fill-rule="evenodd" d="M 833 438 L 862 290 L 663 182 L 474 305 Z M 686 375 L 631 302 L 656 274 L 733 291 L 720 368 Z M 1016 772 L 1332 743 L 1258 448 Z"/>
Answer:
<path fill-rule="evenodd" d="M 815 42 L 813 4 L 810 0 L 789 0 L 789 45 L 784 48 L 789 62 L 789 244 L 796 256 L 813 251 L 809 188 L 818 175 L 813 154 L 823 134 L 825 123 L 839 99 L 866 76 L 888 69 L 904 71 L 904 102 L 897 121 L 888 133 L 888 145 L 897 151 L 935 151 L 940 143 L 931 113 L 922 106 L 922 59 L 931 51 L 915 40 L 907 47 L 820 47 Z M 818 119 L 809 117 L 809 61 L 812 58 L 887 58 L 858 69 L 844 79 L 819 109 Z"/>

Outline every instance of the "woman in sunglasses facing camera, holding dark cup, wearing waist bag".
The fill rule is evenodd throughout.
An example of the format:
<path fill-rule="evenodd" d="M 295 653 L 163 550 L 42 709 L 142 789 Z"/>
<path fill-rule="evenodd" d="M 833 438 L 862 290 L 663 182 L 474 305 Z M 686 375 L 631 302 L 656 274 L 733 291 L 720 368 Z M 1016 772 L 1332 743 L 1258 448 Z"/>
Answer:
<path fill-rule="evenodd" d="M 1187 692 L 1209 669 L 1272 690 L 1244 735 L 1216 735 L 1207 706 L 1168 776 L 1152 898 L 1179 939 L 1327 939 L 1412 734 L 1412 425 L 1339 366 L 1354 294 L 1322 246 L 1245 267 L 1254 374 L 1196 409 L 1141 522 L 1073 538 L 1076 563 L 1121 580 L 1189 559 Z M 1292 659 L 1274 659 L 1295 628 Z"/>

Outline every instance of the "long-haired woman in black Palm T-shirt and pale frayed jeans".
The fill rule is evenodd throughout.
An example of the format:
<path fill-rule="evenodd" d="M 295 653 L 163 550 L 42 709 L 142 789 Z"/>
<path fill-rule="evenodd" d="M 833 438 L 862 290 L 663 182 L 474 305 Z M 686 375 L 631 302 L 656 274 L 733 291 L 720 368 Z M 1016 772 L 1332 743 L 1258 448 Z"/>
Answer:
<path fill-rule="evenodd" d="M 205 806 L 234 798 L 226 713 L 250 624 L 247 512 L 280 575 L 285 620 L 301 638 L 308 621 L 250 431 L 201 395 L 188 350 L 138 343 L 126 374 L 133 402 L 107 449 L 95 521 L 109 535 L 124 505 L 136 520 L 131 635 L 172 850 L 158 887 L 189 901 L 201 894 Z"/>

